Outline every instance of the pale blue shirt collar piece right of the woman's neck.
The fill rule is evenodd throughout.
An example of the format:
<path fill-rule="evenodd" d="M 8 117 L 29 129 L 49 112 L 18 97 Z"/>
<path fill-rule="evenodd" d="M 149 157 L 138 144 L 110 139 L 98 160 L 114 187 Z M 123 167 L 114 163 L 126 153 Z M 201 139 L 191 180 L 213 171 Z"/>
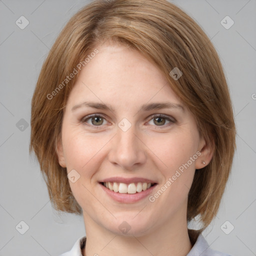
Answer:
<path fill-rule="evenodd" d="M 224 252 L 213 250 L 208 245 L 207 241 L 202 234 L 199 234 L 193 247 L 187 254 L 187 256 L 231 256 Z"/>

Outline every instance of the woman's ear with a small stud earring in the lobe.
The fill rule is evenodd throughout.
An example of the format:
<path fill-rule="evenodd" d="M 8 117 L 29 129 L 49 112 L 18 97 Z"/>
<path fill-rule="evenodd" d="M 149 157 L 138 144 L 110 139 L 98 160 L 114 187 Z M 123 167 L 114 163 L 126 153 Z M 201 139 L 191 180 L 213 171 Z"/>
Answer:
<path fill-rule="evenodd" d="M 211 160 L 214 151 L 214 140 L 209 138 L 206 140 L 201 137 L 199 141 L 198 151 L 201 153 L 195 160 L 195 168 L 201 169 L 205 167 Z"/>

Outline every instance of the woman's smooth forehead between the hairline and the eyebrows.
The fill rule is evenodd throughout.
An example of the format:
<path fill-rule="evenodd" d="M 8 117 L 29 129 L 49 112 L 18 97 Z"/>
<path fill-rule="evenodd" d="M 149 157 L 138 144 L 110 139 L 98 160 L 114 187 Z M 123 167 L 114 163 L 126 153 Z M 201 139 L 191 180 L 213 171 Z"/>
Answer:
<path fill-rule="evenodd" d="M 69 103 L 101 100 L 107 103 L 171 101 L 180 103 L 159 68 L 126 45 L 103 44 L 81 69 L 69 94 Z"/>

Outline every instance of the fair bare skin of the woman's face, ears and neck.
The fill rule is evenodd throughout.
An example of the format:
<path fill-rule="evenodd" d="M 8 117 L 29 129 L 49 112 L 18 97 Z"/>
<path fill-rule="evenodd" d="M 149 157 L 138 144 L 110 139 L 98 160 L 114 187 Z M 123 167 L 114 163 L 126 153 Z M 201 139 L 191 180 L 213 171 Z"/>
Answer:
<path fill-rule="evenodd" d="M 69 184 L 83 209 L 87 241 L 82 253 L 186 255 L 192 247 L 186 223 L 187 195 L 195 169 L 210 161 L 211 147 L 152 62 L 123 45 L 105 43 L 97 49 L 69 94 L 57 142 L 59 164 L 67 173 L 75 169 L 80 175 Z M 88 106 L 71 110 L 84 101 L 109 104 L 114 112 Z M 142 104 L 152 102 L 171 102 L 183 109 L 140 110 Z M 100 125 L 86 119 L 90 114 L 101 115 Z M 172 121 L 152 114 L 163 114 Z M 123 118 L 131 123 L 127 131 L 118 127 Z M 153 195 L 197 151 L 201 155 L 154 202 L 148 196 L 133 203 L 116 202 L 98 183 L 114 176 L 149 178 L 157 182 Z M 118 228 L 123 221 L 130 226 L 127 233 Z"/>

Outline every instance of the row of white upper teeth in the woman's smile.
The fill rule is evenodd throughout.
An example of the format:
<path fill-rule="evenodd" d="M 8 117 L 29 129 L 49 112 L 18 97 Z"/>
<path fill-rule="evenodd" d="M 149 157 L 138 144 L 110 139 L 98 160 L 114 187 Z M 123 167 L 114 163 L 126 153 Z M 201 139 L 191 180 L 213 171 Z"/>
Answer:
<path fill-rule="evenodd" d="M 151 186 L 151 183 L 138 182 L 138 183 L 117 183 L 117 182 L 104 182 L 104 186 L 114 192 L 134 194 L 146 190 Z"/>

